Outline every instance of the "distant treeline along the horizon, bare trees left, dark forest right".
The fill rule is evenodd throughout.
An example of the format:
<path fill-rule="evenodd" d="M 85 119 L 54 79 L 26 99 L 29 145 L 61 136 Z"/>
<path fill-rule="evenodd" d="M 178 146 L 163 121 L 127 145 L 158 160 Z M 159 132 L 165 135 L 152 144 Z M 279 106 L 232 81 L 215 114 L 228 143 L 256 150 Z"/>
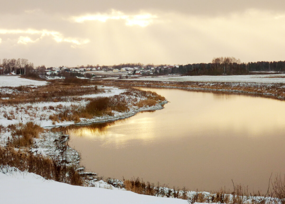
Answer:
<path fill-rule="evenodd" d="M 0 61 L 1 62 L 1 61 Z M 77 68 L 93 68 L 100 65 L 81 65 Z M 241 63 L 239 59 L 235 57 L 217 57 L 212 60 L 211 63 L 193 63 L 187 65 L 167 66 L 165 65 L 153 65 L 142 63 L 122 63 L 119 65 L 106 66 L 102 65 L 102 68 L 121 69 L 124 67 L 143 67 L 149 69 L 149 67 L 155 67 L 157 74 L 182 74 L 182 75 L 247 75 L 252 71 L 274 71 L 276 73 L 285 73 L 285 61 L 257 61 L 249 63 Z M 167 67 L 167 68 L 166 68 Z M 69 67 L 76 68 L 76 67 Z M 0 63 L 0 74 L 7 74 L 15 71 L 15 73 L 25 73 L 27 70 L 31 73 L 32 70 L 46 69 L 44 65 L 34 67 L 33 63 L 28 63 L 27 59 L 3 59 Z"/>

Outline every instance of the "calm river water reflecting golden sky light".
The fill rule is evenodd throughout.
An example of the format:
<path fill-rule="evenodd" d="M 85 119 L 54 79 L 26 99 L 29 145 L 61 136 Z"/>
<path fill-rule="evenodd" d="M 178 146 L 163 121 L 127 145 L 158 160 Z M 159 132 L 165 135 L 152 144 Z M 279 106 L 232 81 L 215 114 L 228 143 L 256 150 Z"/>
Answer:
<path fill-rule="evenodd" d="M 99 176 L 143 178 L 189 190 L 235 184 L 267 191 L 285 173 L 285 102 L 241 94 L 142 88 L 164 109 L 111 123 L 69 127 L 70 146 Z"/>

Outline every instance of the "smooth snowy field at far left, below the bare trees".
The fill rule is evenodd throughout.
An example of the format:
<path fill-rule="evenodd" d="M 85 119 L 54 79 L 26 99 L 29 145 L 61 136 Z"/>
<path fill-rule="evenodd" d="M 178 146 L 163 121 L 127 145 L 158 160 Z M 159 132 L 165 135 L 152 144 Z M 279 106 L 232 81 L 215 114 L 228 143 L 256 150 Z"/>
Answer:
<path fill-rule="evenodd" d="M 0 87 L 5 86 L 42 86 L 46 85 L 46 81 L 36 81 L 30 79 L 20 78 L 18 76 L 0 76 Z"/>

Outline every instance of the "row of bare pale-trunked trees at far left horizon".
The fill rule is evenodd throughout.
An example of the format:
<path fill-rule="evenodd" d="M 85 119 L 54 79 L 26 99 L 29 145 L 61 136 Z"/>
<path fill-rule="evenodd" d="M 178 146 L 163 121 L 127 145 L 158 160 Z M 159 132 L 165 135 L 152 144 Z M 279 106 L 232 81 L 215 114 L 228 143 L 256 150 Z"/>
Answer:
<path fill-rule="evenodd" d="M 25 75 L 26 72 L 32 73 L 34 69 L 34 64 L 29 62 L 27 59 L 6 59 L 2 60 L 0 63 L 1 69 L 0 74 L 8 74 L 10 72 L 15 72 L 15 74 Z"/>

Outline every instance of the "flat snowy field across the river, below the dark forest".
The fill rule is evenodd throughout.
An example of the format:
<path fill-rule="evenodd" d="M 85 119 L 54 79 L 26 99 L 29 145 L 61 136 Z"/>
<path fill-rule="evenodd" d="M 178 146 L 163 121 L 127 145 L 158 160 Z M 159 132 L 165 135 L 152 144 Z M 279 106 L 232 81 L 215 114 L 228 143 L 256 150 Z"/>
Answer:
<path fill-rule="evenodd" d="M 276 78 L 277 77 L 277 78 Z M 279 78 L 284 77 L 284 78 Z M 285 74 L 270 75 L 230 75 L 230 76 L 180 76 L 124 79 L 136 81 L 193 81 L 193 82 L 248 82 L 248 83 L 285 83 Z"/>

